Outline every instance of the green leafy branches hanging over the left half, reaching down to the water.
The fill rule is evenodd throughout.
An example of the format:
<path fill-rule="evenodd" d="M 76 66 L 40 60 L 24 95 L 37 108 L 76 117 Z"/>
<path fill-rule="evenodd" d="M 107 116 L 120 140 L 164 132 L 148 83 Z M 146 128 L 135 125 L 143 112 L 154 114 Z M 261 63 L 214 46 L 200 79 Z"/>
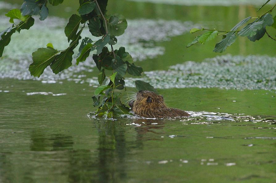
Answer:
<path fill-rule="evenodd" d="M 0 33 L 0 57 L 16 31 L 20 33 L 20 30 L 28 30 L 34 25 L 32 15 L 40 15 L 39 19 L 45 20 L 49 14 L 48 4 L 57 6 L 62 2 L 63 0 L 25 0 L 20 10 L 10 10 L 6 16 L 10 18 L 12 26 Z M 64 30 L 69 47 L 57 50 L 52 43 L 48 43 L 46 48 L 38 48 L 32 53 L 33 63 L 29 66 L 29 71 L 31 75 L 40 77 L 48 66 L 55 74 L 69 68 L 72 65 L 73 49 L 78 46 L 82 39 L 82 31 L 88 26 L 91 35 L 101 39 L 97 41 L 92 41 L 89 37 L 82 39 L 77 54 L 77 65 L 84 62 L 91 51 L 96 51 L 96 54 L 93 54 L 93 60 L 99 70 L 100 86 L 92 97 L 93 105 L 99 105 L 96 111 L 98 116 L 112 117 L 115 113 L 126 114 L 129 111 L 129 108 L 121 103 L 122 94 L 115 95 L 115 89 L 126 90 L 124 81 L 126 73 L 141 76 L 143 69 L 133 63 L 132 56 L 125 51 L 124 47 L 113 49 L 113 45 L 117 43 L 116 36 L 122 35 L 128 24 L 123 15 L 106 14 L 107 2 L 108 0 L 79 0 L 79 15 L 73 14 Z M 107 45 L 110 45 L 111 50 Z M 149 83 L 140 80 L 134 82 L 138 90 L 154 90 Z"/>

